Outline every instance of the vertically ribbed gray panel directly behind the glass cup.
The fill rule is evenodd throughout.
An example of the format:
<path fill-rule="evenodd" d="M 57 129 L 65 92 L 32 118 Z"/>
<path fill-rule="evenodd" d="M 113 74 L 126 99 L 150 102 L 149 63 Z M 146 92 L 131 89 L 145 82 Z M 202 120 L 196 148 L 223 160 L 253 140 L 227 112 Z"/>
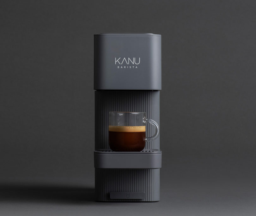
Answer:
<path fill-rule="evenodd" d="M 146 117 L 160 126 L 159 91 L 95 91 L 95 149 L 109 148 L 109 111 L 146 112 Z M 155 134 L 155 127 L 146 125 L 146 136 Z M 146 142 L 147 149 L 160 149 L 160 136 Z"/>

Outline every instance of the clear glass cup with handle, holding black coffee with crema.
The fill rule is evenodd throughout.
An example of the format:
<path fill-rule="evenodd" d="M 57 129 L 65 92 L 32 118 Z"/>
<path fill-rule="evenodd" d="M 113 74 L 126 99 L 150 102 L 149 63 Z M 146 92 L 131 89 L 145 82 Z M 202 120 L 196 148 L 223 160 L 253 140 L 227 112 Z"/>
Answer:
<path fill-rule="evenodd" d="M 115 152 L 140 152 L 145 143 L 159 135 L 158 124 L 145 112 L 109 112 L 109 147 Z M 146 137 L 146 124 L 153 124 L 155 135 Z"/>

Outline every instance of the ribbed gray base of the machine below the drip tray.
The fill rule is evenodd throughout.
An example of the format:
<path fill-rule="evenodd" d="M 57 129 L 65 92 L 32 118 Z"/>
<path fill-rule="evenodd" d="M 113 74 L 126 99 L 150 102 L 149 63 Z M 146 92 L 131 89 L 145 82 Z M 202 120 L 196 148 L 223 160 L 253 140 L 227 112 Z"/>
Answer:
<path fill-rule="evenodd" d="M 145 192 L 143 200 L 110 199 L 110 192 Z M 97 201 L 160 200 L 160 169 L 95 169 L 95 193 Z"/>

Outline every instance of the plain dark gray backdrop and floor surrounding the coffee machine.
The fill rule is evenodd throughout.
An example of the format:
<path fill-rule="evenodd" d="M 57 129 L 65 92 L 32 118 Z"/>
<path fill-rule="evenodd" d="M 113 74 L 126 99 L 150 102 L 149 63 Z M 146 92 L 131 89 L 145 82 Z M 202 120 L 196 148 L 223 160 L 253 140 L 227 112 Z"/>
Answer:
<path fill-rule="evenodd" d="M 2 1 L 1 215 L 255 215 L 255 1 Z M 161 201 L 99 203 L 94 33 L 162 34 Z"/>

